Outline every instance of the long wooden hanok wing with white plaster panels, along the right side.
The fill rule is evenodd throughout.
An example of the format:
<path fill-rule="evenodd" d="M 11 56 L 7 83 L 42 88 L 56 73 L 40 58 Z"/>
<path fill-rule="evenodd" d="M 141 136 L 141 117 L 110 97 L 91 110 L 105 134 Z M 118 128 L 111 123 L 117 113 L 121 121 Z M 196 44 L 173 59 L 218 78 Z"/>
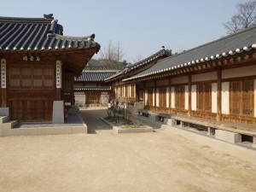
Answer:
<path fill-rule="evenodd" d="M 118 97 L 131 96 L 127 87 L 136 84 L 134 94 L 149 108 L 144 113 L 165 114 L 210 133 L 253 136 L 256 143 L 256 27 L 172 55 L 130 77 L 119 73 L 106 80 Z"/>

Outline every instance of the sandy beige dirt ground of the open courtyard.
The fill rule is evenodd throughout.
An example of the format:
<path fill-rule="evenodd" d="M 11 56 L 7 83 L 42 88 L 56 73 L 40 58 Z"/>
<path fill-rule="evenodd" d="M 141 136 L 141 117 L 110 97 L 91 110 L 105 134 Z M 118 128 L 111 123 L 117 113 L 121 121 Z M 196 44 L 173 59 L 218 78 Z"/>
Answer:
<path fill-rule="evenodd" d="M 0 191 L 256 191 L 246 161 L 173 135 L 117 134 L 81 111 L 90 134 L 0 137 Z"/>

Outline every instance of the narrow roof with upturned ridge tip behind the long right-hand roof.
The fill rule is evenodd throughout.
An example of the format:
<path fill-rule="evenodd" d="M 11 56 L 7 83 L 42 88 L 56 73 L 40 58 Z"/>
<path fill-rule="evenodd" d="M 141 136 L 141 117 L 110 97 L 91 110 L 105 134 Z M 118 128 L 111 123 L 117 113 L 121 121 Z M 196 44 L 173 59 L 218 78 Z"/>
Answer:
<path fill-rule="evenodd" d="M 132 64 L 131 66 L 127 66 L 125 67 L 124 69 L 120 70 L 118 73 L 115 73 L 113 76 L 105 79 L 105 80 L 108 80 L 108 79 L 113 79 L 121 74 L 125 74 L 125 73 L 129 73 L 131 71 L 134 71 L 137 69 L 137 67 L 143 67 L 145 65 L 147 65 L 149 62 L 151 61 L 154 61 L 154 60 L 157 60 L 159 57 L 163 56 L 163 55 L 166 55 L 167 52 L 166 52 L 166 49 L 165 47 L 163 46 L 160 51 L 158 51 L 157 53 L 155 53 L 154 55 L 150 55 L 148 56 L 146 59 L 142 60 L 142 61 L 138 61 L 134 64 Z"/>

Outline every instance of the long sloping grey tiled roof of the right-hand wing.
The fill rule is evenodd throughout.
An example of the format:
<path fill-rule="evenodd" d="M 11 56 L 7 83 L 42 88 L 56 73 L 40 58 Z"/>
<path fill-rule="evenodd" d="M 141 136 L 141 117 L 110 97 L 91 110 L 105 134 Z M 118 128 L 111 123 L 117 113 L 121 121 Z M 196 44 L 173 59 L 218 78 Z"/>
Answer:
<path fill-rule="evenodd" d="M 219 38 L 208 44 L 203 44 L 194 49 L 189 49 L 178 55 L 167 57 L 158 61 L 153 67 L 149 67 L 141 73 L 123 79 L 128 81 L 131 79 L 139 79 L 150 75 L 165 73 L 177 68 L 189 67 L 194 64 L 213 61 L 228 55 L 239 54 L 243 51 L 256 49 L 256 27 L 234 33 L 224 38 Z"/>

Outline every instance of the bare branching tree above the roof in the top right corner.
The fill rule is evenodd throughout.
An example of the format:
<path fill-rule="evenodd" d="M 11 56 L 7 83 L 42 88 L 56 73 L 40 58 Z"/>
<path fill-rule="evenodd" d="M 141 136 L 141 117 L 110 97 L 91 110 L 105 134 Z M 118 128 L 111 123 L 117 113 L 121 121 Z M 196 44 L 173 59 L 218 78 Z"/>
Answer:
<path fill-rule="evenodd" d="M 238 14 L 233 15 L 230 21 L 224 23 L 228 34 L 256 25 L 256 0 L 239 3 L 236 7 Z"/>

